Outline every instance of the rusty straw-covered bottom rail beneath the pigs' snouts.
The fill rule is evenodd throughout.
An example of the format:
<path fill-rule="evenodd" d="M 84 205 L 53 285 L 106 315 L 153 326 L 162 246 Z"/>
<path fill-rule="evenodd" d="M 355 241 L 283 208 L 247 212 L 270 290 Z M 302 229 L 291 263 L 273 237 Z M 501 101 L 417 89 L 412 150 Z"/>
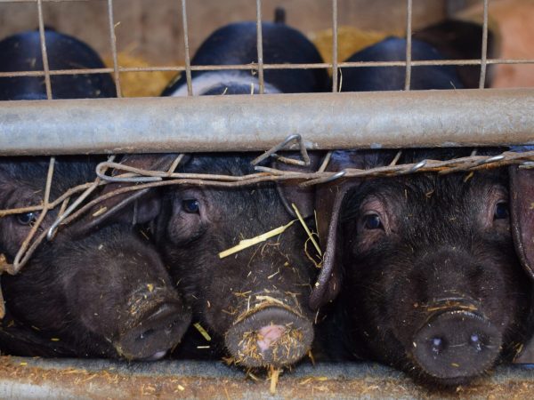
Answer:
<path fill-rule="evenodd" d="M 269 388 L 265 375 L 247 378 L 217 362 L 0 357 L 2 398 L 531 398 L 534 371 L 501 367 L 470 386 L 443 392 L 377 364 L 303 364 L 280 375 L 276 395 Z"/>

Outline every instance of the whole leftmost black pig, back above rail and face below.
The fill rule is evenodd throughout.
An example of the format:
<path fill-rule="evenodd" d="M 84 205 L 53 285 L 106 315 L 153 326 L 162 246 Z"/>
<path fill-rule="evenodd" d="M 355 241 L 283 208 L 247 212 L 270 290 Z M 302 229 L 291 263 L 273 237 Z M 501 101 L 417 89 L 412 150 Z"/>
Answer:
<path fill-rule="evenodd" d="M 52 68 L 101 68 L 98 55 L 70 36 L 45 32 Z M 0 70 L 42 68 L 38 33 L 0 42 Z M 30 61 L 28 61 L 28 58 Z M 29 62 L 29 64 L 28 64 Z M 45 98 L 41 77 L 0 79 L 0 99 Z M 55 76 L 54 98 L 113 96 L 104 76 Z M 52 198 L 94 179 L 97 159 L 59 157 Z M 48 168 L 45 158 L 0 159 L 0 209 L 42 201 Z M 57 212 L 49 212 L 43 229 Z M 38 212 L 0 218 L 0 253 L 12 262 Z M 98 231 L 80 225 L 62 228 L 45 242 L 16 276 L 3 276 L 7 316 L 0 348 L 20 356 L 122 356 L 157 359 L 181 340 L 190 323 L 152 245 L 123 224 Z"/>

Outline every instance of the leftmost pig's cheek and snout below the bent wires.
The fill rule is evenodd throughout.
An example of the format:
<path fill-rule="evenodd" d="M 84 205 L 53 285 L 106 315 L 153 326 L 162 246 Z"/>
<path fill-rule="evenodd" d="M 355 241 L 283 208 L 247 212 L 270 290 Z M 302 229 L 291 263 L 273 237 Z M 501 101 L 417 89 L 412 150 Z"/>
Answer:
<path fill-rule="evenodd" d="M 146 240 L 119 227 L 59 240 L 3 277 L 16 329 L 36 327 L 69 356 L 157 359 L 180 341 L 189 315 Z"/>

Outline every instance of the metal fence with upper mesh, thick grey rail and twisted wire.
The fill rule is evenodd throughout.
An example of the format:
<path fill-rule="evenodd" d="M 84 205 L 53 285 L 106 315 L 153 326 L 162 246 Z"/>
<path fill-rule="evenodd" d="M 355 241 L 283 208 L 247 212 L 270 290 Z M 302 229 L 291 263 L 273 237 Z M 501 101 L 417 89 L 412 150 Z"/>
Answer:
<path fill-rule="evenodd" d="M 44 2 L 74 2 L 84 0 L 0 0 L 0 3 L 35 3 L 44 69 L 42 71 L 1 72 L 0 77 L 44 76 L 48 100 L 6 101 L 0 103 L 0 156 L 61 155 L 79 153 L 137 153 L 137 152 L 195 152 L 195 151 L 264 151 L 279 143 L 287 143 L 287 136 L 301 141 L 301 148 L 403 148 L 441 146 L 493 146 L 502 144 L 534 143 L 534 89 L 491 90 L 484 88 L 487 67 L 495 64 L 534 64 L 534 59 L 488 59 L 488 8 L 483 1 L 483 35 L 481 58 L 477 60 L 411 60 L 412 8 L 407 0 L 406 61 L 342 62 L 338 60 L 337 0 L 331 0 L 332 62 L 320 64 L 266 64 L 263 62 L 262 0 L 255 0 L 257 30 L 257 63 L 247 65 L 191 66 L 188 31 L 188 6 L 193 2 L 181 0 L 185 65 L 150 68 L 120 67 L 117 61 L 117 44 L 113 16 L 113 0 L 107 2 L 109 44 L 113 67 L 98 69 L 49 68 L 44 41 Z M 252 3 L 252 2 L 251 2 Z M 178 16 L 177 16 L 178 17 Z M 411 68 L 434 65 L 480 65 L 479 90 L 409 92 Z M 395 93 L 340 93 L 339 68 L 404 67 L 405 91 Z M 260 94 L 264 89 L 263 72 L 268 69 L 329 68 L 332 75 L 331 93 L 277 94 L 273 96 L 219 96 L 191 97 L 193 82 L 191 71 L 198 70 L 255 70 Z M 176 71 L 185 73 L 190 98 L 124 99 L 121 96 L 120 74 L 126 72 Z M 52 100 L 51 76 L 111 73 L 114 77 L 117 98 L 105 100 Z M 51 101 L 52 100 L 52 101 Z M 125 107 L 127 106 L 127 107 Z M 407 110 L 409 110 L 407 112 Z M 81 112 L 83 111 L 83 112 Z M 227 116 L 233 116 L 229 119 Z M 281 117 L 283 116 L 283 117 Z M 214 124 L 206 126 L 206 119 Z M 110 134 L 112 133 L 112 134 Z M 290 140 L 290 141 L 291 141 Z M 296 145 L 289 148 L 295 148 Z M 373 170 L 344 170 L 325 172 L 326 164 L 316 172 L 280 172 L 259 169 L 257 174 L 244 177 L 198 176 L 168 172 L 128 170 L 127 178 L 138 178 L 143 183 L 117 190 L 115 194 L 161 185 L 172 185 L 188 180 L 190 183 L 209 185 L 247 185 L 261 180 L 300 180 L 304 184 L 317 184 L 345 177 L 390 176 L 412 172 L 456 172 L 507 164 L 526 164 L 534 161 L 534 152 L 501 156 L 473 156 L 436 162 L 427 160 L 418 164 L 389 165 Z M 16 273 L 41 243 L 47 232 L 37 236 L 46 212 L 59 207 L 60 212 L 53 229 L 76 218 L 101 197 L 77 210 L 92 191 L 107 183 L 102 175 L 51 201 L 49 198 L 53 176 L 53 158 L 44 191 L 44 202 L 23 209 L 0 211 L 0 217 L 20 212 L 40 211 L 39 219 L 12 266 L 4 268 Z M 149 180 L 147 180 L 149 178 Z M 144 180 L 142 180 L 144 179 Z M 114 193 L 107 194 L 107 196 Z M 77 196 L 69 207 L 69 199 Z M 50 232 L 53 232 L 53 229 Z M 183 372 L 182 372 L 183 373 Z M 189 372 L 186 372 L 186 375 Z M 310 372 L 312 373 L 312 372 Z M 385 372 L 384 372 L 385 373 Z M 389 373 L 389 372 L 388 372 Z M 22 374 L 23 375 L 23 374 Z M 18 375 L 17 375 L 18 376 Z M 337 376 L 337 375 L 336 375 Z M 196 379 L 196 378 L 195 378 Z M 302 382 L 308 378 L 306 375 Z M 311 378 L 315 379 L 315 378 Z M 333 378 L 328 378 L 333 379 Z M 368 379 L 365 375 L 362 380 Z M 510 381 L 515 377 L 508 377 Z M 523 385 L 532 386 L 531 378 L 522 378 Z M 236 378 L 236 380 L 238 380 Z M 384 379 L 386 381 L 387 379 Z M 321 380 L 322 381 L 322 380 Z M 5 385 L 12 383 L 4 381 Z M 302 383 L 301 381 L 298 384 Z M 344 382 L 344 380 L 343 380 Z M 342 383 L 343 383 L 342 382 Z M 397 380 L 397 383 L 401 380 Z M 16 382 L 15 382 L 16 383 Z M 105 382 L 104 382 L 105 383 Z M 407 382 L 402 381 L 406 385 Z M 51 388 L 56 383 L 48 383 Z M 505 386 L 507 381 L 498 382 Z M 326 383 L 323 386 L 327 385 Z M 344 383 L 343 383 L 344 385 Z M 4 389 L 0 382 L 0 388 Z M 328 386 L 328 385 L 327 385 Z M 181 385 L 178 385 L 180 388 Z M 223 385 L 224 387 L 224 385 Z M 381 387 L 375 385 L 375 388 Z M 83 388 L 83 386 L 82 386 Z M 221 387 L 219 386 L 219 390 Z M 235 390 L 235 388 L 233 388 Z M 15 393 L 28 394 L 27 388 L 15 388 Z M 180 388 L 179 390 L 182 390 Z M 243 391 L 240 389 L 242 396 Z M 368 390 L 371 390 L 368 388 Z M 375 389 L 373 389 L 375 390 Z M 373 391 L 371 390 L 371 392 Z M 410 388 L 410 390 L 413 390 Z M 376 390 L 375 390 L 376 391 Z M 12 392 L 13 393 L 13 392 Z M 108 391 L 106 393 L 111 393 Z M 248 393 L 248 392 L 247 392 Z M 253 393 L 252 390 L 250 393 Z M 303 391 L 304 393 L 304 391 Z M 413 392 L 415 393 L 415 392 Z M 201 392 L 197 392 L 197 396 Z M 256 393 L 255 393 L 256 394 Z M 299 391 L 295 392 L 298 395 Z M 306 394 L 308 394 L 306 392 Z M 352 396 L 353 393 L 348 393 Z M 247 395 L 250 396 L 250 395 Z M 255 395 L 253 395 L 255 396 Z"/>

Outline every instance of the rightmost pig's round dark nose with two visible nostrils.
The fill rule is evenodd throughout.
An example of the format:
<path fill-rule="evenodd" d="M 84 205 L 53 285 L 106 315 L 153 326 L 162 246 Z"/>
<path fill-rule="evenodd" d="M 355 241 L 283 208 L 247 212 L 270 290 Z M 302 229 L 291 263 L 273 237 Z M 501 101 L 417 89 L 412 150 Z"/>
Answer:
<path fill-rule="evenodd" d="M 469 379 L 490 368 L 498 357 L 501 334 L 490 321 L 471 311 L 432 316 L 416 332 L 414 360 L 429 375 L 444 380 Z"/>

